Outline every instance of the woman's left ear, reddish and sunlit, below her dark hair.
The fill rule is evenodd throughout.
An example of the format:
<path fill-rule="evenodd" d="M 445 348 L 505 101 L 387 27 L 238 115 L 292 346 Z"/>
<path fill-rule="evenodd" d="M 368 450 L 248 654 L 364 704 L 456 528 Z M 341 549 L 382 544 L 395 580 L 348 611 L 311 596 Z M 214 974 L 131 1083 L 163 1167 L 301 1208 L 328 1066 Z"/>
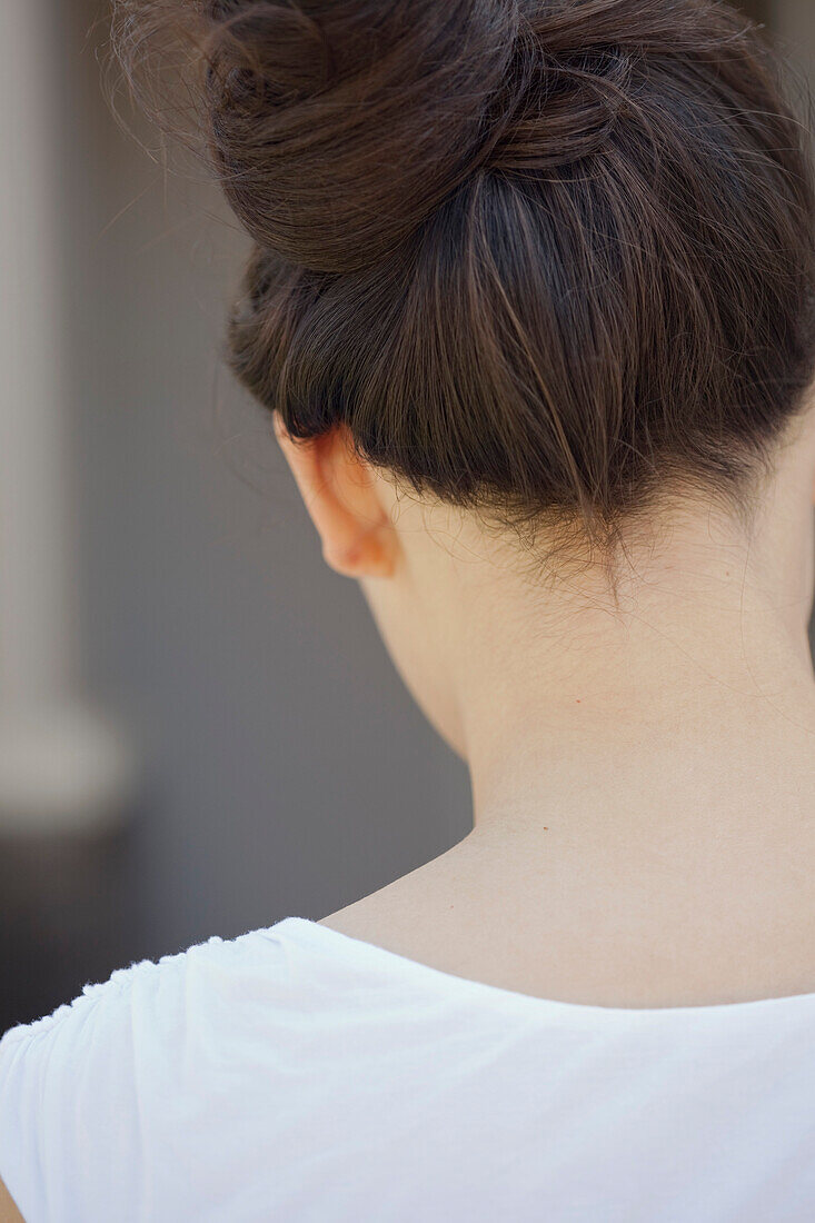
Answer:
<path fill-rule="evenodd" d="M 346 426 L 302 440 L 286 432 L 279 413 L 274 432 L 319 534 L 323 558 L 346 577 L 390 577 L 399 538 L 377 495 L 377 478 L 354 453 Z"/>

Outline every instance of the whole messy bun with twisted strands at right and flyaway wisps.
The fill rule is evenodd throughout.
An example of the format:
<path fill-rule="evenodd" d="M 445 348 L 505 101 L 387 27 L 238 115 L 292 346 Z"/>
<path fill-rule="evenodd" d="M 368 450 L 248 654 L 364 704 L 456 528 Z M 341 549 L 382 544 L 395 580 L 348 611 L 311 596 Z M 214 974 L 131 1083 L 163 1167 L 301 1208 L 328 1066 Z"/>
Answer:
<path fill-rule="evenodd" d="M 642 53 L 700 49 L 695 0 L 114 0 L 114 12 L 131 82 L 142 64 L 162 76 L 155 43 L 171 39 L 169 76 L 181 65 L 179 97 L 248 234 L 327 273 L 376 263 L 480 166 L 589 155 L 635 105 Z M 175 99 L 154 97 L 140 100 L 165 125 Z"/>

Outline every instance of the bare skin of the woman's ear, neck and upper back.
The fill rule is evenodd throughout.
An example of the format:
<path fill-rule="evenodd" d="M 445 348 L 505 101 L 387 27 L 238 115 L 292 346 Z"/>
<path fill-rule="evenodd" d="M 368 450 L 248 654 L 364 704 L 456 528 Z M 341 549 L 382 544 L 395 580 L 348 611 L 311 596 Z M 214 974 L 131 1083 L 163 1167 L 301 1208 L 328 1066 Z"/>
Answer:
<path fill-rule="evenodd" d="M 322 925 L 601 1007 L 815 992 L 815 396 L 748 531 L 699 490 L 596 569 L 408 494 L 335 429 L 278 440 L 323 556 L 467 763 L 463 841 Z"/>

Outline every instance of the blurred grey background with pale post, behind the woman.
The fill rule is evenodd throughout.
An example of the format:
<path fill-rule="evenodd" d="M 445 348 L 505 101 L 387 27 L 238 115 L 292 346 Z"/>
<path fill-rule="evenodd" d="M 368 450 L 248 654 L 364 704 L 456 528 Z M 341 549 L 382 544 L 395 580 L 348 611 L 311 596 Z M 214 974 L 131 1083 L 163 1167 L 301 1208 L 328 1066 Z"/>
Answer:
<path fill-rule="evenodd" d="M 813 0 L 744 7 L 800 95 Z M 106 40 L 100 0 L 0 5 L 0 1031 L 471 827 L 221 366 L 246 240 L 115 122 Z"/>

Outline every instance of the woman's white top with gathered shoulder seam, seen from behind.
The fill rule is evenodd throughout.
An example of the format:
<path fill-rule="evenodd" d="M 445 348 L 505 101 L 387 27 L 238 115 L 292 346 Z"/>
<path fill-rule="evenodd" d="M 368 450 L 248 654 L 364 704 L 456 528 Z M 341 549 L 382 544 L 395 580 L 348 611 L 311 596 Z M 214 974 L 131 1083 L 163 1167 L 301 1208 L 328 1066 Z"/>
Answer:
<path fill-rule="evenodd" d="M 815 994 L 549 1002 L 303 917 L 0 1042 L 28 1223 L 813 1223 Z"/>

